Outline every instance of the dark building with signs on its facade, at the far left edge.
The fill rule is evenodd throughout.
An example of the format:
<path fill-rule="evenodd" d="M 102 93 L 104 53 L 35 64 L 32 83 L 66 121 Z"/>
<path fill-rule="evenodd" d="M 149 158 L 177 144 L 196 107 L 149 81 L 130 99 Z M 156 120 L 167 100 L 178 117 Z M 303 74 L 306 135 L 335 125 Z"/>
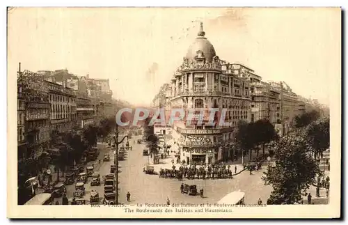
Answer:
<path fill-rule="evenodd" d="M 38 159 L 49 147 L 49 90 L 41 75 L 22 72 L 20 65 L 17 88 L 19 173 L 35 174 Z"/>

